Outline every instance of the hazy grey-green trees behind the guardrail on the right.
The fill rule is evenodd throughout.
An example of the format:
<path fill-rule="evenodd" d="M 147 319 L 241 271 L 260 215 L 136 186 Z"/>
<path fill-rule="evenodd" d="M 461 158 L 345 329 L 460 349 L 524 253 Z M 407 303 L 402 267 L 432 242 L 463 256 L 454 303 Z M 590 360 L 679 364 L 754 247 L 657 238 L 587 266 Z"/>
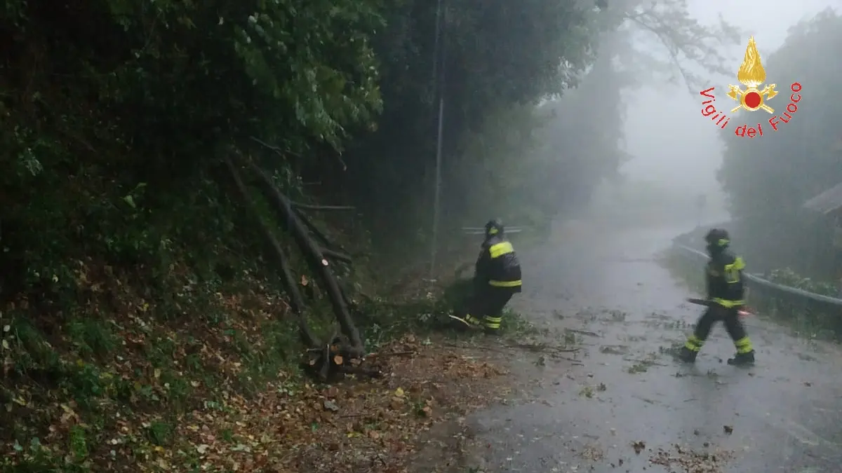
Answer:
<path fill-rule="evenodd" d="M 732 123 L 760 122 L 764 136 L 738 137 L 731 129 L 724 137 L 719 178 L 733 216 L 747 224 L 741 237 L 755 266 L 839 275 L 829 258 L 833 221 L 802 209 L 807 199 L 842 181 L 842 107 L 834 101 L 842 69 L 838 61 L 826 59 L 839 47 L 842 17 L 832 10 L 793 27 L 784 45 L 763 58 L 763 66 L 767 82 L 781 90 L 769 103 L 775 115 L 786 112 L 793 82 L 802 85 L 797 111 L 777 131 L 768 122 L 774 115 L 738 114 Z"/>

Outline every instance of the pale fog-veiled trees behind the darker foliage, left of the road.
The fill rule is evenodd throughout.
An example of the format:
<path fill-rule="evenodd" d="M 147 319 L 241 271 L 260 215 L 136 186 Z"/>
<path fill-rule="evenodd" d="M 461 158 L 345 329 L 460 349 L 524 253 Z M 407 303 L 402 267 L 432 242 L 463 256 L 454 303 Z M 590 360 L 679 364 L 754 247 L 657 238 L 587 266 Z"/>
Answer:
<path fill-rule="evenodd" d="M 690 69 L 721 72 L 718 51 L 737 39 L 727 24 L 700 24 L 679 1 L 612 3 L 578 18 L 578 28 L 564 33 L 564 54 L 573 60 L 559 72 L 565 77 L 553 79 L 559 88 L 522 103 L 489 97 L 477 125 L 457 137 L 445 167 L 445 202 L 454 220 L 482 221 L 491 212 L 540 226 L 584 209 L 594 188 L 616 180 L 629 158 L 621 150 L 623 94 L 678 76 L 695 87 L 699 79 Z M 667 56 L 653 54 L 657 48 L 647 39 Z"/>

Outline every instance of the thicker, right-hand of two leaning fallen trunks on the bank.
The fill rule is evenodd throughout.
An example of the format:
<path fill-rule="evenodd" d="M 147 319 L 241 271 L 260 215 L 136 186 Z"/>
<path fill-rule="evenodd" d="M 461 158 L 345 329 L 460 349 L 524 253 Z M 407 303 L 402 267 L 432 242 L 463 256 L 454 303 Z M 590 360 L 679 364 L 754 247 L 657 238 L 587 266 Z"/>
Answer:
<path fill-rule="evenodd" d="M 333 307 L 333 314 L 336 316 L 339 327 L 342 328 L 343 334 L 348 337 L 351 345 L 347 350 L 343 350 L 344 353 L 347 353 L 352 358 L 362 357 L 365 351 L 360 340 L 360 332 L 354 327 L 354 321 L 351 318 L 348 306 L 345 305 L 342 291 L 339 290 L 339 285 L 330 268 L 330 263 L 328 263 L 328 260 L 316 242 L 313 242 L 307 231 L 306 224 L 302 223 L 301 218 L 296 214 L 290 199 L 274 186 L 272 178 L 269 178 L 269 175 L 263 169 L 253 162 L 248 162 L 248 167 L 258 176 L 258 185 L 263 189 L 264 195 L 272 204 L 275 212 L 280 217 L 280 221 L 285 222 L 292 237 L 295 238 L 298 246 L 301 247 L 301 252 L 304 253 L 307 261 L 311 264 L 313 272 L 318 274 L 319 279 L 322 280 L 322 286 L 328 292 L 328 298 Z"/>

